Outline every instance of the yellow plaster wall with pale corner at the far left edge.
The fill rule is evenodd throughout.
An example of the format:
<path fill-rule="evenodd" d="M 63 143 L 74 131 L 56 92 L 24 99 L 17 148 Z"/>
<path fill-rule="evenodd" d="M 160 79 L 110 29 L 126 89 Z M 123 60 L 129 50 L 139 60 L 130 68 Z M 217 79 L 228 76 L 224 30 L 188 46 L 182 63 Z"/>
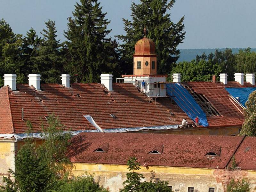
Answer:
<path fill-rule="evenodd" d="M 0 186 L 3 185 L 3 176 L 10 177 L 8 169 L 15 171 L 14 160 L 17 145 L 13 139 L 0 139 Z"/>

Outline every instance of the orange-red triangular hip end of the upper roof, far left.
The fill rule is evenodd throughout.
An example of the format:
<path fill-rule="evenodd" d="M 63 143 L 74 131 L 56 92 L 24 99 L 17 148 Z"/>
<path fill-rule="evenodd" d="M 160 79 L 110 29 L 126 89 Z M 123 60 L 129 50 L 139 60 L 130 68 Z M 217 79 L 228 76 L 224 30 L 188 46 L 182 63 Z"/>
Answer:
<path fill-rule="evenodd" d="M 13 133 L 12 113 L 7 86 L 0 89 L 0 119 L 0 133 Z"/>

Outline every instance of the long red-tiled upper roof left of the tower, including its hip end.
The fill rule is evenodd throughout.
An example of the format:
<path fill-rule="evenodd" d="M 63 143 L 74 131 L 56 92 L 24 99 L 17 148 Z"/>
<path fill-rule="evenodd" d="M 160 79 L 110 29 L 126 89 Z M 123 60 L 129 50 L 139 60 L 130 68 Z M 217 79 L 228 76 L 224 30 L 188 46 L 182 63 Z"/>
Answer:
<path fill-rule="evenodd" d="M 183 118 L 192 123 L 170 100 L 163 102 L 157 99 L 156 104 L 149 103 L 148 98 L 132 84 L 113 84 L 113 92 L 107 92 L 98 83 L 72 84 L 72 88 L 60 84 L 41 84 L 41 88 L 42 91 L 36 91 L 28 84 L 18 84 L 17 91 L 7 86 L 0 89 L 0 103 L 6 105 L 6 113 L 0 112 L 4 122 L 3 126 L 0 124 L 0 133 L 11 133 L 12 120 L 14 133 L 26 132 L 28 120 L 33 124 L 34 131 L 40 132 L 41 124 L 46 123 L 44 116 L 52 113 L 59 116 L 66 130 L 72 131 L 95 129 L 84 115 L 91 115 L 102 129 L 176 125 L 181 124 Z M 8 97 L 9 105 L 6 102 Z M 21 119 L 21 108 L 25 121 Z M 170 115 L 168 110 L 174 115 Z"/>

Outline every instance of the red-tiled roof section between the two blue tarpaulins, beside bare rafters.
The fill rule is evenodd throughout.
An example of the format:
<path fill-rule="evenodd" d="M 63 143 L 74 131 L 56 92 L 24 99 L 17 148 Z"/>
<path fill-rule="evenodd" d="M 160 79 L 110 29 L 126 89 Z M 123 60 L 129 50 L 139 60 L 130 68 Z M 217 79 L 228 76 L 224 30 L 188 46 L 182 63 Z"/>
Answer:
<path fill-rule="evenodd" d="M 228 82 L 227 85 L 220 82 L 186 82 L 185 84 L 196 93 L 203 94 L 220 113 L 220 116 L 207 116 L 210 127 L 242 125 L 244 123 L 244 115 L 240 112 L 243 111 L 243 108 L 234 101 L 233 103 L 230 101 L 225 87 L 255 87 L 255 85 L 247 82 L 244 82 L 244 85 L 238 82 Z"/>

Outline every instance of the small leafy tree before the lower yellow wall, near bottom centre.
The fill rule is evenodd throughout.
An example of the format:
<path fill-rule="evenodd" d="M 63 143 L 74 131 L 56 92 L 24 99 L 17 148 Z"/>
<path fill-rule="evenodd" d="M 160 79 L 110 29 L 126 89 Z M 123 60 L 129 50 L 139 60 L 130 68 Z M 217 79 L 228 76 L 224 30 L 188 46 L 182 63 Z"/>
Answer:
<path fill-rule="evenodd" d="M 127 169 L 129 169 L 130 172 L 126 173 L 126 180 L 123 182 L 124 188 L 122 188 L 120 192 L 171 192 L 167 181 L 140 182 L 144 177 L 141 173 L 135 172 L 140 170 L 140 164 L 135 157 L 131 157 L 127 161 L 127 165 Z"/>

